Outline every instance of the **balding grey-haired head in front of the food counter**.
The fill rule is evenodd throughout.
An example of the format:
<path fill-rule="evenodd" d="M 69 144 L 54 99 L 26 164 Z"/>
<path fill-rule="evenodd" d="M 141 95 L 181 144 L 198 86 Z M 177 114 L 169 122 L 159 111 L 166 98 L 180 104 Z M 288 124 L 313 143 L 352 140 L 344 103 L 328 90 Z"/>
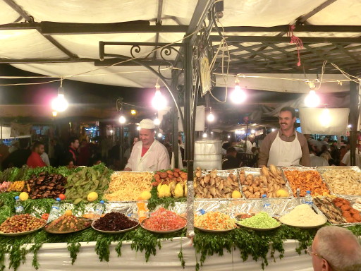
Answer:
<path fill-rule="evenodd" d="M 319 229 L 312 251 L 322 256 L 313 257 L 315 271 L 322 270 L 325 260 L 332 271 L 361 270 L 360 240 L 348 229 L 336 226 Z"/>

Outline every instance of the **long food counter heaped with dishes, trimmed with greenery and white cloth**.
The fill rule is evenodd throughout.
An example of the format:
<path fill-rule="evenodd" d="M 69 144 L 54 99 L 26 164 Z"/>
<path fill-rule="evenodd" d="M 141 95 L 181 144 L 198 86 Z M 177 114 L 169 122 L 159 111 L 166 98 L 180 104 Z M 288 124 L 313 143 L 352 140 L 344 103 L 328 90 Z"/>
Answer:
<path fill-rule="evenodd" d="M 195 235 L 189 237 L 185 229 L 188 176 L 179 169 L 112 172 L 104 165 L 7 169 L 0 175 L 0 223 L 14 217 L 14 196 L 22 191 L 29 195 L 21 201 L 25 213 L 37 219 L 49 213 L 59 193 L 65 199 L 60 217 L 34 232 L 27 229 L 24 235 L 6 236 L 1 224 L 0 265 L 5 270 L 289 270 L 290 266 L 312 270 L 305 249 L 319 227 L 336 224 L 361 235 L 361 170 L 357 167 L 197 168 L 194 176 Z M 302 204 L 307 190 L 314 197 L 312 209 Z M 265 212 L 269 210 L 264 209 L 261 193 L 267 194 L 272 215 Z M 108 217 L 97 217 L 89 224 L 77 222 L 94 218 L 101 199 L 106 201 Z M 344 214 L 343 205 L 355 211 Z M 114 213 L 135 224 L 109 231 L 104 225 L 112 227 L 109 217 Z M 300 218 L 304 215 L 312 216 L 308 223 L 313 224 Z M 75 219 L 78 229 L 61 229 L 66 219 Z"/>

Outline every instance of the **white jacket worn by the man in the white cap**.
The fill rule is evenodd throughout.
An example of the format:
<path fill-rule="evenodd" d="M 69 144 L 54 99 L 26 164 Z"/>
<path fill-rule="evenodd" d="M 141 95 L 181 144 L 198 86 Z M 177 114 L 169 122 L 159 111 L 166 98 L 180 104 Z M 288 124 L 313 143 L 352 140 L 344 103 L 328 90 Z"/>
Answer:
<path fill-rule="evenodd" d="M 141 157 L 142 146 L 142 141 L 135 143 L 126 168 L 129 167 L 132 171 L 157 171 L 171 168 L 168 151 L 163 144 L 154 140 L 143 157 Z"/>

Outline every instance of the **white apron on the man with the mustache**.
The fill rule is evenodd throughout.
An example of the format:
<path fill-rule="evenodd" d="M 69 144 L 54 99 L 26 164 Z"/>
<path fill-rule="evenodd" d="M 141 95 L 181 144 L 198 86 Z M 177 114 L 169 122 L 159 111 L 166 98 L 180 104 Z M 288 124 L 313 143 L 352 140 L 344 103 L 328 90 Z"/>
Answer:
<path fill-rule="evenodd" d="M 302 149 L 297 138 L 297 132 L 295 132 L 295 140 L 292 142 L 281 140 L 279 133 L 277 133 L 276 139 L 269 149 L 267 167 L 271 164 L 274 164 L 276 167 L 289 167 L 300 164 Z"/>

